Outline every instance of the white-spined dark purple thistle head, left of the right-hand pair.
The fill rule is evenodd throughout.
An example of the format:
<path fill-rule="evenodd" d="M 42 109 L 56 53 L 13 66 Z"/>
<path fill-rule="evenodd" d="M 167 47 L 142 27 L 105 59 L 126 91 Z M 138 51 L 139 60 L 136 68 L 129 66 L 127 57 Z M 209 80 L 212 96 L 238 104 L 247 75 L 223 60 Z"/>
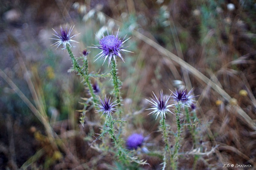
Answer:
<path fill-rule="evenodd" d="M 156 118 L 158 115 L 160 115 L 160 117 L 163 118 L 166 118 L 165 117 L 165 113 L 166 112 L 170 112 L 172 113 L 168 108 L 173 106 L 174 104 L 170 105 L 170 102 L 168 103 L 169 99 L 171 96 L 169 96 L 167 99 L 166 99 L 166 96 L 164 97 L 163 96 L 163 91 L 160 91 L 160 96 L 157 98 L 155 93 L 153 92 L 154 96 L 152 95 L 153 99 L 151 99 L 152 101 L 148 100 L 150 103 L 150 105 L 152 105 L 152 108 L 149 108 L 147 110 L 153 110 L 151 113 L 155 113 L 156 114 Z M 149 113 L 149 114 L 151 114 Z M 173 114 L 173 113 L 172 113 Z"/>

